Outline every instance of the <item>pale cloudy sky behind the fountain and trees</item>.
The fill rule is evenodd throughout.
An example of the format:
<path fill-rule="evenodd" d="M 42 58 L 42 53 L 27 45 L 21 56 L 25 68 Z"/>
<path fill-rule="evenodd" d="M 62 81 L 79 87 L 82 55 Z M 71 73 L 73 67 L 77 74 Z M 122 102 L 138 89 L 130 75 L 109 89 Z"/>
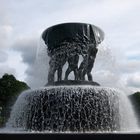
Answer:
<path fill-rule="evenodd" d="M 105 32 L 95 81 L 140 91 L 139 0 L 0 0 L 0 77 L 14 74 L 33 88 L 43 86 L 48 58 L 40 36 L 64 22 L 91 23 Z"/>

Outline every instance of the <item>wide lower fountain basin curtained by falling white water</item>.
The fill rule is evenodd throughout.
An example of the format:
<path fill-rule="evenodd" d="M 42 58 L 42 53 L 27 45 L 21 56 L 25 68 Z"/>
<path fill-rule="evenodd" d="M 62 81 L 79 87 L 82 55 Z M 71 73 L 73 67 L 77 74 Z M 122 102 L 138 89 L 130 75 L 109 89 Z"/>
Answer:
<path fill-rule="evenodd" d="M 46 132 L 133 129 L 132 120 L 126 117 L 123 120 L 128 113 L 121 98 L 119 91 L 99 86 L 49 86 L 28 90 L 18 97 L 7 126 Z M 135 126 L 133 121 L 132 124 Z"/>

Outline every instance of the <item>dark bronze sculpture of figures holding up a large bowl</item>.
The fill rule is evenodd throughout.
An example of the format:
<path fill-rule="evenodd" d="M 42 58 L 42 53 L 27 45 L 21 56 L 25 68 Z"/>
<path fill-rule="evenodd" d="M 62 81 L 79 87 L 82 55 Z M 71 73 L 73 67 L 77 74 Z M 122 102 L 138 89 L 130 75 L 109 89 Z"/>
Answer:
<path fill-rule="evenodd" d="M 56 85 L 56 83 L 99 85 L 93 82 L 91 74 L 98 51 L 97 46 L 104 39 L 104 33 L 99 27 L 85 23 L 64 23 L 46 29 L 42 38 L 48 47 L 47 51 L 50 56 L 47 85 Z M 78 67 L 80 55 L 83 61 Z M 68 62 L 68 68 L 63 81 L 62 69 L 66 62 Z M 55 82 L 54 79 L 56 71 L 59 82 Z M 74 80 L 68 80 L 72 71 Z M 90 82 L 85 82 L 85 75 L 88 76 Z"/>

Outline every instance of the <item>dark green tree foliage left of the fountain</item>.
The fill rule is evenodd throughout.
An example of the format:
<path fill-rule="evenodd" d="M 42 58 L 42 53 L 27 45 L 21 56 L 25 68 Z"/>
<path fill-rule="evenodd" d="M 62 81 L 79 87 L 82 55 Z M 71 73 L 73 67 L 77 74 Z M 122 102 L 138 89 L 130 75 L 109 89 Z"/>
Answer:
<path fill-rule="evenodd" d="M 16 80 L 13 75 L 4 74 L 0 78 L 0 126 L 7 121 L 11 106 L 18 95 L 26 89 L 29 89 L 29 86 L 24 82 Z"/>

